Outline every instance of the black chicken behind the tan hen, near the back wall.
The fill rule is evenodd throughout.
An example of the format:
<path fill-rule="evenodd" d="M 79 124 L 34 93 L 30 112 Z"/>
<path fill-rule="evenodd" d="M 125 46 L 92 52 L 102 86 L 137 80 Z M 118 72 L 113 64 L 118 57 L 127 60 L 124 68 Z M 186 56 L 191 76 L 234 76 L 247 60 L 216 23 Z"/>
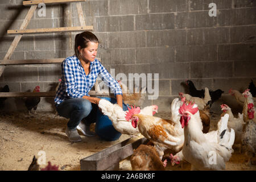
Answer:
<path fill-rule="evenodd" d="M 197 90 L 191 80 L 187 80 L 186 83 L 188 85 L 189 95 L 191 95 L 192 97 L 204 98 L 204 89 Z M 221 94 L 224 93 L 224 91 L 222 91 L 221 89 L 217 89 L 215 91 L 209 90 L 209 92 L 212 103 L 217 101 L 221 97 Z"/>

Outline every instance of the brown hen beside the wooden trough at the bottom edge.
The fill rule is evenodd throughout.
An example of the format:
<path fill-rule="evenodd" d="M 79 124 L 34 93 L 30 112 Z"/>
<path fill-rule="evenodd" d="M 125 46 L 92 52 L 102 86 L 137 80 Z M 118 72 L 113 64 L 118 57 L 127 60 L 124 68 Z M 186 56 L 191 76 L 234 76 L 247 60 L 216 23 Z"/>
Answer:
<path fill-rule="evenodd" d="M 167 160 L 160 160 L 155 147 L 141 144 L 130 158 L 133 171 L 164 171 Z"/>

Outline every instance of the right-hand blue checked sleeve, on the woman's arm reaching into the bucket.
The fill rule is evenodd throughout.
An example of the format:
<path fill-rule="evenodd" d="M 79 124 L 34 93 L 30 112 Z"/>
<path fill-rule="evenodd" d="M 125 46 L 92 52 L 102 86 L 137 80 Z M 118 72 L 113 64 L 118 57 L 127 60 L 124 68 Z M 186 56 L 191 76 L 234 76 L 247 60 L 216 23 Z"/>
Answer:
<path fill-rule="evenodd" d="M 114 92 L 115 96 L 123 95 L 122 89 L 118 82 L 110 75 L 110 73 L 106 70 L 106 68 L 104 68 L 104 66 L 101 63 L 99 64 L 100 74 L 102 76 L 102 79 L 104 79 L 104 82 L 108 83 L 108 86 Z"/>

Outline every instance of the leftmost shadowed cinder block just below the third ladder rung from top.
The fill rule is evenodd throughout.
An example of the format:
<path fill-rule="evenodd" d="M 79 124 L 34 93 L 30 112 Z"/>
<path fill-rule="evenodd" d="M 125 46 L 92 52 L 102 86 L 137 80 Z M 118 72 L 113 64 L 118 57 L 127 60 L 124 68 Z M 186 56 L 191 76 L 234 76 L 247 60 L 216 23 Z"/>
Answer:
<path fill-rule="evenodd" d="M 38 67 L 6 67 L 3 76 L 10 82 L 38 81 Z"/>

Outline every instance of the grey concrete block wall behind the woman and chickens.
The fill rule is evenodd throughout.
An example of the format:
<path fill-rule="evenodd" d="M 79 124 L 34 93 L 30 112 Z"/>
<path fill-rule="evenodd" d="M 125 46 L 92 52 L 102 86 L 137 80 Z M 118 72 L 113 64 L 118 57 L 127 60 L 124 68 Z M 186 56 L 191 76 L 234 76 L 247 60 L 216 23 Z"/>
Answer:
<path fill-rule="evenodd" d="M 217 16 L 210 17 L 209 3 L 216 3 Z M 47 5 L 46 17 L 36 10 L 28 28 L 79 26 L 76 4 Z M 144 105 L 157 104 L 170 110 L 183 82 L 192 80 L 198 89 L 224 90 L 220 104 L 236 105 L 230 88 L 256 84 L 256 3 L 249 0 L 87 0 L 82 2 L 87 25 L 100 39 L 98 57 L 110 71 L 118 73 L 159 73 L 159 97 Z M 0 58 L 5 56 L 28 7 L 22 1 L 0 2 Z M 23 36 L 11 59 L 43 59 L 73 54 L 77 32 Z M 40 85 L 54 90 L 60 64 L 10 66 L 0 77 L 0 87 L 9 84 L 12 92 L 24 92 Z M 9 100 L 9 101 L 8 101 Z M 19 99 L 9 98 L 5 107 L 24 109 Z M 15 102 L 13 102 L 15 100 Z M 19 103 L 19 104 L 16 104 Z M 53 110 L 53 99 L 40 102 L 39 110 Z"/>

